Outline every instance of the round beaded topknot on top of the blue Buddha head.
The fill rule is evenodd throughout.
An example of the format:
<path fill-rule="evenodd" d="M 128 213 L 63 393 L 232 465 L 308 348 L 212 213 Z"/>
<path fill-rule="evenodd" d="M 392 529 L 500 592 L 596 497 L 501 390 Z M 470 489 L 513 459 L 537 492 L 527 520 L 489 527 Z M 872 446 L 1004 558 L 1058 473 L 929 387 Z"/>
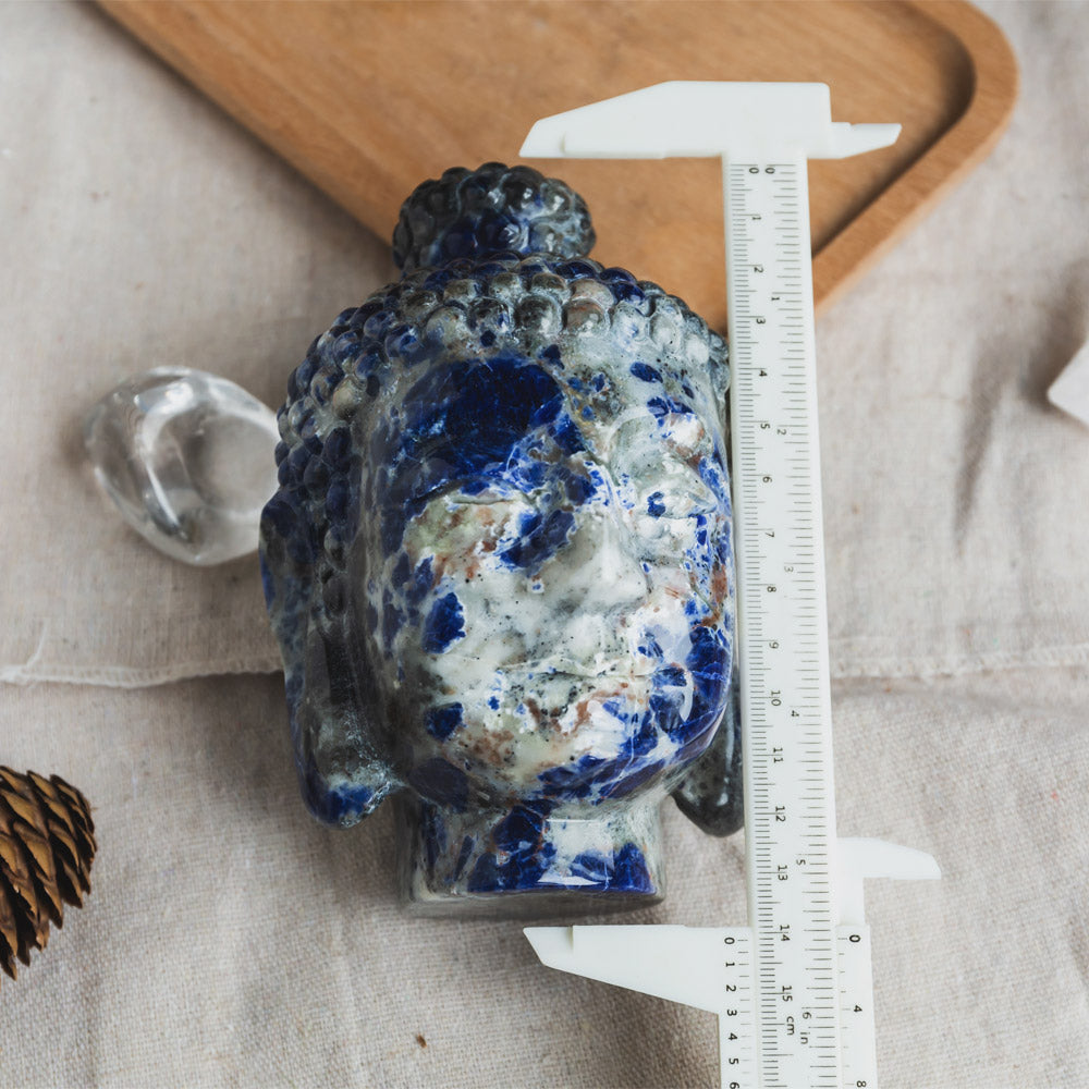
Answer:
<path fill-rule="evenodd" d="M 492 254 L 585 257 L 594 248 L 586 203 L 533 167 L 454 167 L 418 185 L 401 208 L 393 259 L 403 272 Z"/>

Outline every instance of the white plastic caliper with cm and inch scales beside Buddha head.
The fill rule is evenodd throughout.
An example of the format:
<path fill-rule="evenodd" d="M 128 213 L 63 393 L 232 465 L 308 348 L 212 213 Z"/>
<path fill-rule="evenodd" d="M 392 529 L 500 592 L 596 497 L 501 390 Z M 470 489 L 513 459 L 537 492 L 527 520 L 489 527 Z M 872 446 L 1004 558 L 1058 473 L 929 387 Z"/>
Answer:
<path fill-rule="evenodd" d="M 541 960 L 719 1015 L 727 1089 L 873 1089 L 862 879 L 929 855 L 837 839 L 806 160 L 886 147 L 817 83 L 663 83 L 534 125 L 528 158 L 722 159 L 747 927 L 530 927 Z"/>

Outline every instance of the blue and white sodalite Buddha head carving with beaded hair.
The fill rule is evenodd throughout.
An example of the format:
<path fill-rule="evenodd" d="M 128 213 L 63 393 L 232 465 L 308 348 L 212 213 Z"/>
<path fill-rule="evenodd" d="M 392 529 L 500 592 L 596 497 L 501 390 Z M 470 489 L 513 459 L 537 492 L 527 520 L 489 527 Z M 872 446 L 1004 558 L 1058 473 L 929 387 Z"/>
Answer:
<path fill-rule="evenodd" d="M 261 562 L 309 809 L 399 807 L 421 908 L 652 903 L 741 817 L 725 344 L 525 167 L 406 201 L 291 378 Z"/>

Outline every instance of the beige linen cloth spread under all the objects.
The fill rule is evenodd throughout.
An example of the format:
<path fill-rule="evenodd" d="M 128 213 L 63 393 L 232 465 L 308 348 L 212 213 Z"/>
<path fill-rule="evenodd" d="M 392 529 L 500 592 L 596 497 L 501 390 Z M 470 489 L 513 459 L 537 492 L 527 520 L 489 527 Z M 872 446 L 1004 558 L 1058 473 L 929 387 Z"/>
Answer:
<path fill-rule="evenodd" d="M 1089 335 L 1089 7 L 983 8 L 1010 132 L 818 326 L 839 827 L 944 871 L 868 888 L 882 1085 L 1087 1087 L 1089 428 L 1044 394 Z M 166 559 L 84 465 L 152 366 L 278 403 L 388 243 L 73 3 L 0 7 L 0 761 L 100 843 L 0 986 L 0 1085 L 717 1085 L 710 1015 L 406 918 L 389 816 L 297 799 L 256 561 Z M 665 821 L 632 921 L 742 922 L 741 839 Z"/>

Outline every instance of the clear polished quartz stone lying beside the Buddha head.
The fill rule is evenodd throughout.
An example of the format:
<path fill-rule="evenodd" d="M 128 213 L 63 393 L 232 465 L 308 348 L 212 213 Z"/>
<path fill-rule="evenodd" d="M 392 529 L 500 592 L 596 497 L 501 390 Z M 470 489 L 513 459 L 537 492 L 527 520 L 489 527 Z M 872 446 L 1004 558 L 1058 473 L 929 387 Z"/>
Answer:
<path fill-rule="evenodd" d="M 84 420 L 95 476 L 125 521 L 167 555 L 200 566 L 256 551 L 279 438 L 271 408 L 185 367 L 122 382 Z"/>

